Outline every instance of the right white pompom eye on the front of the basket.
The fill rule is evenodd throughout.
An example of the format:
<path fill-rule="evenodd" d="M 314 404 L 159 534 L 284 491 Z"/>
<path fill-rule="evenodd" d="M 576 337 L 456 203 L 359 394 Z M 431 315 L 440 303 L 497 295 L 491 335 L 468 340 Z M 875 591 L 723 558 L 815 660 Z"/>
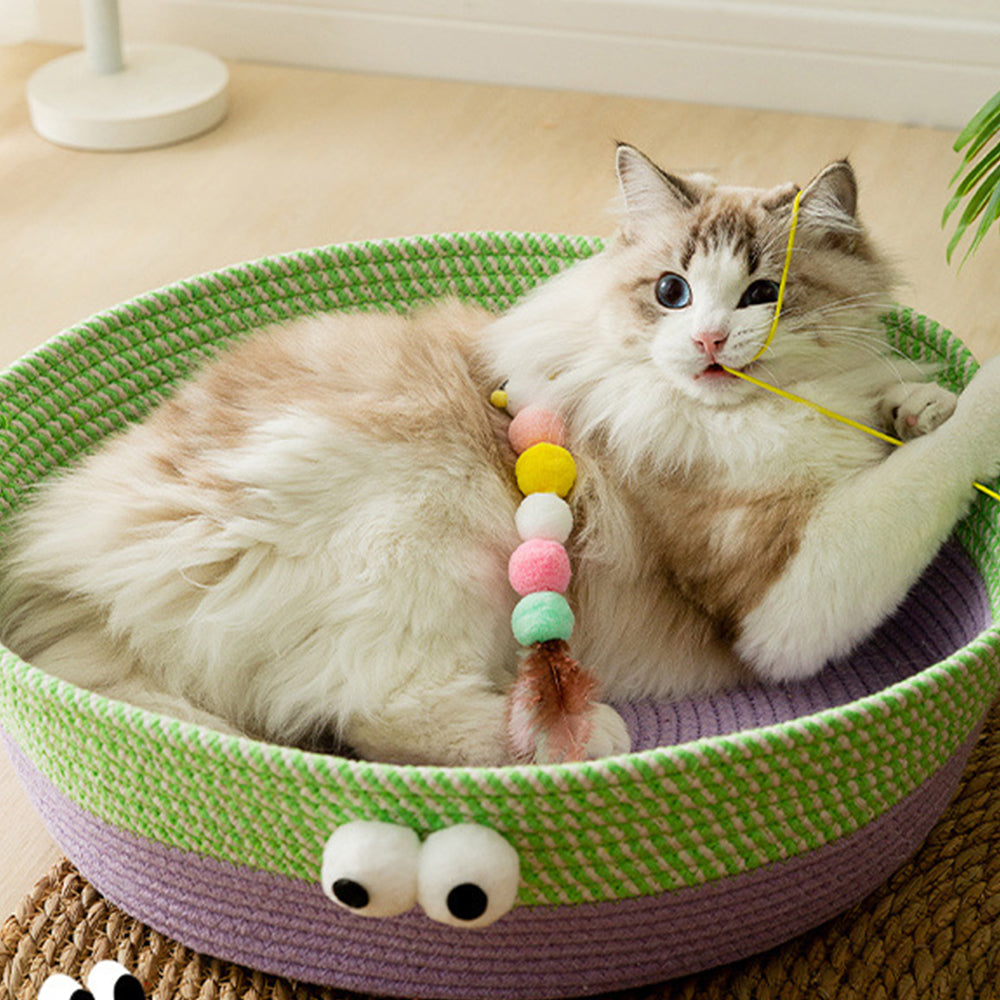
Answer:
<path fill-rule="evenodd" d="M 417 898 L 439 923 L 486 927 L 513 907 L 520 881 L 517 851 L 495 830 L 464 823 L 424 841 Z"/>

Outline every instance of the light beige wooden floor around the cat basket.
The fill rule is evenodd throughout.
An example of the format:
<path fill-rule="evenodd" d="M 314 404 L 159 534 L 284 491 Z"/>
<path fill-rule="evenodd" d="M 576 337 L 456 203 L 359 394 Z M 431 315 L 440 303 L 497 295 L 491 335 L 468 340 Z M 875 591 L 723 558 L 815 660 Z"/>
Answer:
<path fill-rule="evenodd" d="M 453 230 L 610 231 L 614 140 L 676 171 L 807 181 L 849 156 L 900 299 L 980 358 L 1000 352 L 1000 240 L 947 266 L 956 167 L 931 129 L 694 105 L 233 65 L 216 131 L 168 149 L 38 138 L 24 84 L 62 50 L 0 48 L 0 363 L 140 292 L 345 240 Z M 983 95 L 984 99 L 987 95 Z M 975 110 L 970 108 L 970 113 Z M 0 753 L 0 918 L 57 849 Z"/>

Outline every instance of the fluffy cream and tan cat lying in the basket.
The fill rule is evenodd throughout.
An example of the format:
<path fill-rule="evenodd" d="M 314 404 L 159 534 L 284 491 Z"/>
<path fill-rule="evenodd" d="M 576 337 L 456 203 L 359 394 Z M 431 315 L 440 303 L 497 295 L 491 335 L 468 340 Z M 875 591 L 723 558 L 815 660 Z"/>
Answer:
<path fill-rule="evenodd" d="M 886 346 L 893 269 L 848 162 L 801 192 L 756 361 L 798 187 L 676 176 L 624 144 L 616 166 L 606 248 L 505 315 L 445 301 L 261 330 L 43 483 L 6 540 L 4 641 L 224 731 L 509 763 L 520 495 L 489 402 L 506 380 L 561 415 L 577 462 L 587 756 L 629 749 L 607 702 L 794 681 L 849 651 L 1000 473 L 1000 368 L 956 401 Z"/>

